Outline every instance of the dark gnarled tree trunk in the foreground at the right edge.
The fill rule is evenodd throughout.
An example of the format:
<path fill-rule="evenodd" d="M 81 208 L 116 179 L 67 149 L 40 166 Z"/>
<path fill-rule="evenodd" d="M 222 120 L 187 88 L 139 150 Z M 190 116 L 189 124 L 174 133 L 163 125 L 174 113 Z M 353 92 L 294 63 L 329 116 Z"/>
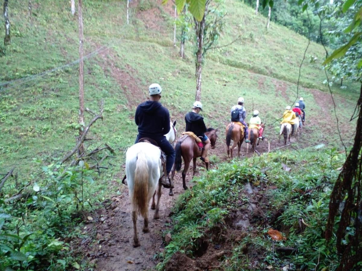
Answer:
<path fill-rule="evenodd" d="M 362 250 L 362 158 L 359 156 L 362 149 L 362 85 L 356 109 L 358 119 L 353 147 L 334 184 L 325 230 L 327 241 L 330 241 L 334 235 L 337 237 L 336 247 L 341 255 L 337 270 L 355 270 L 355 265 L 362 261 L 360 253 Z M 342 202 L 344 202 L 344 208 L 338 219 L 338 229 L 335 231 L 334 222 Z M 350 235 L 348 244 L 344 244 L 343 240 L 348 227 L 354 228 L 354 235 Z"/>

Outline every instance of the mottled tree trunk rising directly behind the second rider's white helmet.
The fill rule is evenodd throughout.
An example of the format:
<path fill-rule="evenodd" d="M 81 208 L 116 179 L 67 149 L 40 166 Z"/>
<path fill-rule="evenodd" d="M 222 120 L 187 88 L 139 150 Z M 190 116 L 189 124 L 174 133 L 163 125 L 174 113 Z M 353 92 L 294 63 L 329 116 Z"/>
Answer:
<path fill-rule="evenodd" d="M 206 13 L 205 9 L 205 13 Z M 195 100 L 201 101 L 201 76 L 202 76 L 202 45 L 203 45 L 203 35 L 205 30 L 205 14 L 201 22 L 196 23 L 196 36 L 197 36 L 197 52 L 196 52 L 196 95 Z"/>

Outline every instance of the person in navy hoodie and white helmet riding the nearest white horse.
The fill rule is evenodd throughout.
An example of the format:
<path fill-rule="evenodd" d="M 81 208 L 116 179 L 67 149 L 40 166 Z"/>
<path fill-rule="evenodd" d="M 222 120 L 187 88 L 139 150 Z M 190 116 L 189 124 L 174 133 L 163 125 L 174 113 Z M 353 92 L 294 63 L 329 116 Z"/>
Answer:
<path fill-rule="evenodd" d="M 148 91 L 150 100 L 139 104 L 136 109 L 135 122 L 138 125 L 138 136 L 135 143 L 143 137 L 155 140 L 166 154 L 166 176 L 168 176 L 175 160 L 175 150 L 164 136 L 171 128 L 170 114 L 159 102 L 161 99 L 161 86 L 153 83 L 148 88 Z M 166 181 L 166 176 L 163 175 L 161 182 L 169 185 Z"/>

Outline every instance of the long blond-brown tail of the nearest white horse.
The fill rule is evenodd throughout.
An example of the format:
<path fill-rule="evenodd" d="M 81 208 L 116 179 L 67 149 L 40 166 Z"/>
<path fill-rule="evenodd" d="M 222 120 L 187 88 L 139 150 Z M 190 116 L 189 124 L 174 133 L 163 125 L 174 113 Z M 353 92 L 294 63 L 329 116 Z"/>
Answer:
<path fill-rule="evenodd" d="M 146 217 L 148 212 L 148 164 L 144 152 L 138 154 L 134 182 L 133 204 L 138 213 Z"/>

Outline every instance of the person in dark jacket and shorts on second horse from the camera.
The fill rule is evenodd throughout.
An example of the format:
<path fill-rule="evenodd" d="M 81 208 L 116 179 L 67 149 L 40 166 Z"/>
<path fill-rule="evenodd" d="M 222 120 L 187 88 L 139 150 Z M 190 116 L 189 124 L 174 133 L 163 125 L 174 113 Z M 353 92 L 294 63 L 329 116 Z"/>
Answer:
<path fill-rule="evenodd" d="M 202 162 L 205 162 L 207 151 L 210 149 L 210 139 L 205 135 L 206 125 L 203 121 L 203 117 L 199 115 L 202 111 L 202 103 L 199 101 L 194 102 L 192 111 L 185 116 L 186 132 L 193 132 L 197 137 L 201 137 L 201 141 L 205 144 L 204 151 L 200 157 Z"/>

